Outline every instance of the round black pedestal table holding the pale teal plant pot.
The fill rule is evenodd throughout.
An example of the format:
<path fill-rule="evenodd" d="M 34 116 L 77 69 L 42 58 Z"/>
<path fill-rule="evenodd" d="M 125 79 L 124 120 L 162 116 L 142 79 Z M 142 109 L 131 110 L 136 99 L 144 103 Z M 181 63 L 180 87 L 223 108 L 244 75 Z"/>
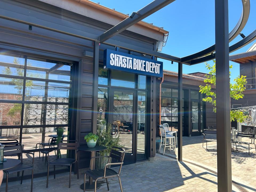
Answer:
<path fill-rule="evenodd" d="M 104 146 L 98 146 L 96 145 L 95 147 L 88 147 L 88 146 L 80 146 L 77 148 L 78 151 L 90 151 L 91 152 L 91 158 L 94 157 L 95 152 L 96 151 L 104 151 L 106 150 L 107 147 Z M 90 166 L 90 170 L 93 170 L 94 166 L 93 163 Z M 87 181 L 85 183 L 85 190 L 87 191 L 91 191 L 94 190 L 94 182 L 93 182 L 93 178 L 89 177 L 89 182 Z M 83 189 L 84 183 L 80 185 L 80 188 Z M 96 189 L 99 189 L 101 187 L 101 185 L 99 183 L 97 183 L 96 185 Z"/>

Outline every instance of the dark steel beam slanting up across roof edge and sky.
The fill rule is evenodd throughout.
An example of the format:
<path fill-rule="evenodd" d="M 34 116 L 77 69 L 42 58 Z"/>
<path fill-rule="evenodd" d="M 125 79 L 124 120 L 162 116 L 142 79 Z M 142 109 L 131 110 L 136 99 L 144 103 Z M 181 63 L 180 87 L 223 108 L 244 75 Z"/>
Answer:
<path fill-rule="evenodd" d="M 121 21 L 111 29 L 107 30 L 105 33 L 99 36 L 99 41 L 104 42 L 107 39 L 121 33 L 123 30 L 126 30 L 128 27 L 138 23 L 142 19 L 146 18 L 147 16 L 155 13 L 159 9 L 162 9 L 166 5 L 174 2 L 175 0 L 155 0 L 142 9 L 138 10 L 137 12 L 133 12 L 130 17 L 127 17 L 125 20 Z"/>

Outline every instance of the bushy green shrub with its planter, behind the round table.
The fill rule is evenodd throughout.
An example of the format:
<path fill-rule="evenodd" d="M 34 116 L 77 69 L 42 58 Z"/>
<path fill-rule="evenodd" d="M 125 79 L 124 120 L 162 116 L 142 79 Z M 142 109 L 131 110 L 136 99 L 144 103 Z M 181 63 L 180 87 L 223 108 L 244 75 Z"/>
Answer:
<path fill-rule="evenodd" d="M 113 146 L 123 148 L 121 145 L 121 139 L 119 138 L 119 134 L 117 136 L 111 135 L 111 123 L 108 123 L 105 129 L 101 129 L 101 127 L 97 127 L 97 145 L 107 147 L 106 150 L 100 151 L 97 153 L 97 156 L 109 156 L 111 148 Z M 107 164 L 108 158 L 98 158 L 96 160 L 96 169 L 103 169 Z"/>

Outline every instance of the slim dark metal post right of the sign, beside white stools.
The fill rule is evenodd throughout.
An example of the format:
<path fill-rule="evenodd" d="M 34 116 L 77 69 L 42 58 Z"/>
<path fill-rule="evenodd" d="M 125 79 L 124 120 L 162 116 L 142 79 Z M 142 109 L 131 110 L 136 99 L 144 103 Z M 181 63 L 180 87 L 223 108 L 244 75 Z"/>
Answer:
<path fill-rule="evenodd" d="M 178 63 L 178 161 L 182 161 L 182 63 Z"/>

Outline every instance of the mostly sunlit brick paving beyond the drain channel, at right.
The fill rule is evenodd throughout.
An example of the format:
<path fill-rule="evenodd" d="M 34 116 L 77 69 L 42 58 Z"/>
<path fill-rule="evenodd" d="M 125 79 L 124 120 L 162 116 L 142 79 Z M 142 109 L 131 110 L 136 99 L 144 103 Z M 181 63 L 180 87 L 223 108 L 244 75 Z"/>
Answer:
<path fill-rule="evenodd" d="M 217 143 L 208 142 L 208 151 L 206 151 L 202 147 L 202 139 L 203 136 L 183 137 L 183 160 L 217 171 Z M 245 140 L 243 138 L 243 141 Z M 205 144 L 204 147 L 206 147 Z M 231 153 L 232 179 L 247 190 L 256 191 L 256 153 L 254 145 L 250 145 L 250 147 L 252 147 L 250 155 L 248 155 L 248 145 L 238 147 L 239 152 Z M 162 153 L 162 149 L 160 153 Z M 174 155 L 174 151 L 169 152 L 169 149 L 166 148 L 165 154 L 176 157 L 178 150 L 176 148 L 176 155 Z"/>

